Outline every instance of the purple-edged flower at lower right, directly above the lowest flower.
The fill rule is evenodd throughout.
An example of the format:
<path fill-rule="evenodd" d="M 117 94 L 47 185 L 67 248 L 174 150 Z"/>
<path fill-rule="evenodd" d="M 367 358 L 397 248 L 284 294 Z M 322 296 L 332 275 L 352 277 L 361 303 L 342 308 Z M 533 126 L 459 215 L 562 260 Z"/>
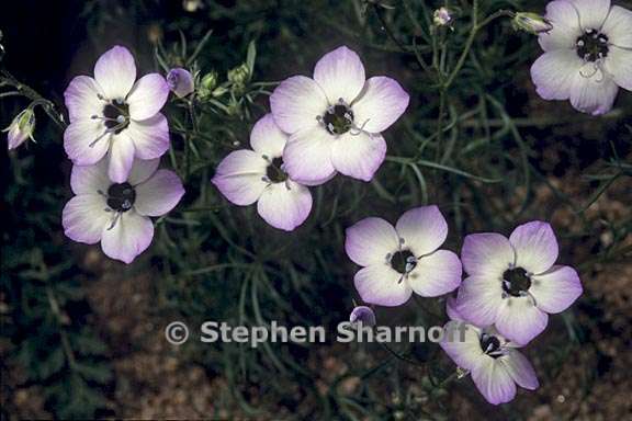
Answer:
<path fill-rule="evenodd" d="M 577 272 L 554 264 L 557 252 L 553 229 L 538 220 L 520 225 L 509 239 L 493 232 L 465 237 L 461 261 L 470 276 L 459 289 L 459 311 L 526 344 L 546 328 L 548 314 L 565 310 L 582 295 Z"/>

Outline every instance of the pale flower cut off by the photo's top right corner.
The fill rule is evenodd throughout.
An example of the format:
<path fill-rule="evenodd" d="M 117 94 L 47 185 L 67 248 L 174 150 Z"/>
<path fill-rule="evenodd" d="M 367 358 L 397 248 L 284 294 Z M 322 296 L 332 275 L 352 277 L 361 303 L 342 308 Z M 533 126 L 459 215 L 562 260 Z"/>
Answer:
<path fill-rule="evenodd" d="M 632 12 L 610 0 L 556 0 L 545 18 L 553 30 L 540 34 L 544 54 L 531 67 L 540 96 L 610 111 L 619 87 L 632 90 Z"/>

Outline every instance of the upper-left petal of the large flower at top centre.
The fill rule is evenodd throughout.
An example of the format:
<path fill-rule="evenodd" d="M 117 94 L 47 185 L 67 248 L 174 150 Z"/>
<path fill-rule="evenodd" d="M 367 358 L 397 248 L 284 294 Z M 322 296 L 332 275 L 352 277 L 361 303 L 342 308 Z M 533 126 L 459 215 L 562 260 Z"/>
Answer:
<path fill-rule="evenodd" d="M 305 76 L 285 79 L 270 95 L 274 122 L 289 134 L 317 126 L 317 117 L 327 106 L 327 98 L 318 83 Z"/>

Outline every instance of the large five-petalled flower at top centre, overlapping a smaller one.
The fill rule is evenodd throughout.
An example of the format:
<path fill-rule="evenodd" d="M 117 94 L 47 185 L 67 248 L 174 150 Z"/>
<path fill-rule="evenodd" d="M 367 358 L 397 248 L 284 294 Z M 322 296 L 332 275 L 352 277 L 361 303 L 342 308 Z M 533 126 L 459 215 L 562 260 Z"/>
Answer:
<path fill-rule="evenodd" d="M 283 152 L 287 173 L 298 182 L 327 180 L 336 171 L 370 181 L 386 153 L 380 133 L 399 118 L 408 100 L 391 78 L 365 80 L 351 49 L 326 54 L 314 79 L 294 76 L 270 96 L 274 121 L 291 135 Z"/>

